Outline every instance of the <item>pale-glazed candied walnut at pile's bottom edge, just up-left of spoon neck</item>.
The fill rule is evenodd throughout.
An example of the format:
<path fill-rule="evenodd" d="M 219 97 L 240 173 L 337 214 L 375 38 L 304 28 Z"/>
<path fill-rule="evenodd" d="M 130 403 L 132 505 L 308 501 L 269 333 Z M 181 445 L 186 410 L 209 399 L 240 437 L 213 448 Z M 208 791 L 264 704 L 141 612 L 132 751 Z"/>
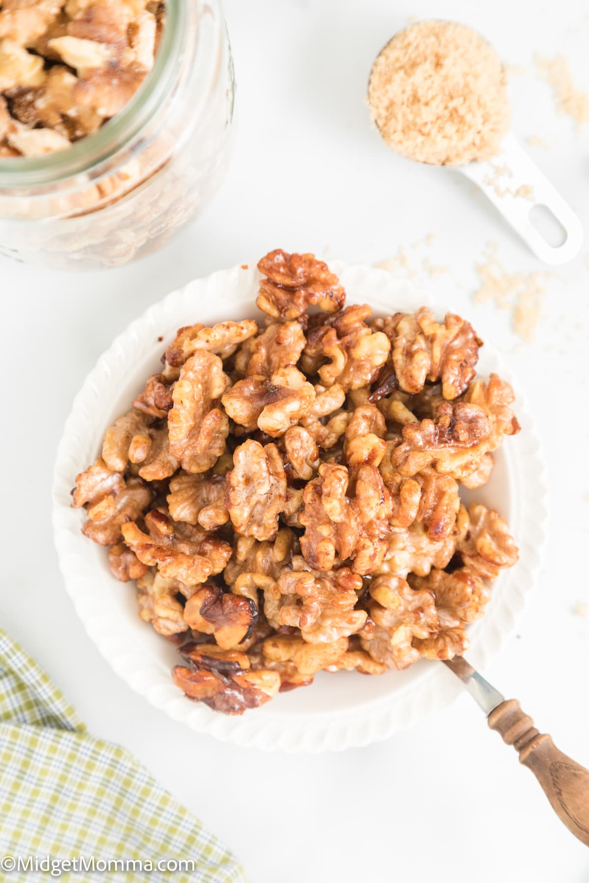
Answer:
<path fill-rule="evenodd" d="M 369 591 L 368 612 L 374 626 L 360 632 L 360 645 L 387 668 L 407 668 L 419 660 L 412 640 L 428 638 L 439 629 L 434 595 L 389 574 L 374 577 Z"/>

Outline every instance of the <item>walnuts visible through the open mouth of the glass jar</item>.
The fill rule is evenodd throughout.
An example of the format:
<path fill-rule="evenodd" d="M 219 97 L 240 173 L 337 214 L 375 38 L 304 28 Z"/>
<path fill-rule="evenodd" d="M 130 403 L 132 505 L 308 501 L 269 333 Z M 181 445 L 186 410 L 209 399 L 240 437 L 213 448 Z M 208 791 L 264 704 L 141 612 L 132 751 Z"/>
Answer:
<path fill-rule="evenodd" d="M 96 132 L 154 64 L 159 0 L 0 0 L 0 158 Z"/>

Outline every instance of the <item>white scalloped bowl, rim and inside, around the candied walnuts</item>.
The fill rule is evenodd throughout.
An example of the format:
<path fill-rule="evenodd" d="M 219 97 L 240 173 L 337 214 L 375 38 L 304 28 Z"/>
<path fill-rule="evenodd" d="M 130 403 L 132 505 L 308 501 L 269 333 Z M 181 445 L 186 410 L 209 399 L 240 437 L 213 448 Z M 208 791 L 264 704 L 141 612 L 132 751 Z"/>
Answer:
<path fill-rule="evenodd" d="M 394 279 L 381 269 L 333 262 L 347 302 L 368 303 L 374 313 L 413 311 L 432 303 L 426 291 Z M 448 705 L 460 687 L 436 662 L 421 661 L 406 671 L 367 677 L 356 672 L 321 672 L 312 686 L 279 694 L 241 717 L 211 711 L 185 698 L 170 669 L 177 653 L 137 615 L 132 584 L 111 576 L 106 550 L 80 532 L 83 513 L 71 509 L 78 472 L 94 461 L 102 435 L 160 366 L 162 349 L 182 325 L 211 325 L 259 315 L 255 268 L 233 268 L 198 279 L 151 306 L 99 358 L 74 401 L 57 451 L 53 525 L 64 581 L 79 618 L 102 655 L 134 691 L 177 721 L 227 742 L 264 750 L 339 751 L 391 736 Z M 445 305 L 444 305 L 445 306 Z M 163 343 L 158 341 L 163 338 Z M 479 374 L 509 372 L 488 344 L 480 352 Z M 540 444 L 525 402 L 517 396 L 522 431 L 495 456 L 495 471 L 476 499 L 507 519 L 520 548 L 517 565 L 496 580 L 485 616 L 472 626 L 468 658 L 484 668 L 513 632 L 540 568 L 546 519 L 544 467 Z"/>

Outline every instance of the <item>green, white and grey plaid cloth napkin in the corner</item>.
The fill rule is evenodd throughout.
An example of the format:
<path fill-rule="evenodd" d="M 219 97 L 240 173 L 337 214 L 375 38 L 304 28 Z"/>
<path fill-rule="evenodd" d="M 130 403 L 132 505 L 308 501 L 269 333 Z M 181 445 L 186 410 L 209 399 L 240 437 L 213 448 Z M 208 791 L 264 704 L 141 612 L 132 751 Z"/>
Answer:
<path fill-rule="evenodd" d="M 0 630 L 0 879 L 59 876 L 245 883 L 199 819 L 131 754 L 89 736 L 49 677 Z"/>

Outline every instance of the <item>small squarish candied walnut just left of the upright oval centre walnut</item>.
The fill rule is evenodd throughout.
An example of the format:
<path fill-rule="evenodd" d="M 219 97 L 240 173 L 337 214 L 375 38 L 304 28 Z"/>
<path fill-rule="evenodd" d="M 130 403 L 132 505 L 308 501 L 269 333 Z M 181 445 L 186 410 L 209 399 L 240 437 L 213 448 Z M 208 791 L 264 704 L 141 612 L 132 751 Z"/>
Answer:
<path fill-rule="evenodd" d="M 170 481 L 168 508 L 174 521 L 200 525 L 206 531 L 226 525 L 229 512 L 225 506 L 227 483 L 224 475 L 191 475 L 180 472 Z"/>

